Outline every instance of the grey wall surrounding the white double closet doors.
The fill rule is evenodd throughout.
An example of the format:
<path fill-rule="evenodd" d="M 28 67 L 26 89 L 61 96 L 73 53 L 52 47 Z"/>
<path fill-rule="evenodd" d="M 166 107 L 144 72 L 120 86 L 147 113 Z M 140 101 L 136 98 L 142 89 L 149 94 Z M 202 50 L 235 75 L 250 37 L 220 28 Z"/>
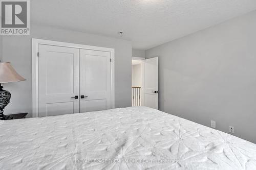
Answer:
<path fill-rule="evenodd" d="M 27 81 L 3 84 L 11 92 L 5 113 L 32 112 L 32 38 L 115 48 L 115 107 L 131 106 L 131 41 L 31 25 L 30 36 L 3 36 L 3 60 Z"/>

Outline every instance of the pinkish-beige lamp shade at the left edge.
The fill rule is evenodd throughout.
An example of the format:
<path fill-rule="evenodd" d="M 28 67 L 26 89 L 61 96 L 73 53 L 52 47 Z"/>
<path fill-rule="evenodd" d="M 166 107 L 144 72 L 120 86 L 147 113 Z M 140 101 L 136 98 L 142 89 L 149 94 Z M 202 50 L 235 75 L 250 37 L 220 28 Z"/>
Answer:
<path fill-rule="evenodd" d="M 24 81 L 22 76 L 17 74 L 9 62 L 0 62 L 0 84 Z"/>

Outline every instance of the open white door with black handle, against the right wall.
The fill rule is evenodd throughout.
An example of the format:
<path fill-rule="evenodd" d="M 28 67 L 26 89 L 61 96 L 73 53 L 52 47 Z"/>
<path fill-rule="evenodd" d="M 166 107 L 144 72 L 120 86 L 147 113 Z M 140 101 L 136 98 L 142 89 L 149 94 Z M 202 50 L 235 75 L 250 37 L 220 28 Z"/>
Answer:
<path fill-rule="evenodd" d="M 141 105 L 158 109 L 158 57 L 141 62 Z"/>

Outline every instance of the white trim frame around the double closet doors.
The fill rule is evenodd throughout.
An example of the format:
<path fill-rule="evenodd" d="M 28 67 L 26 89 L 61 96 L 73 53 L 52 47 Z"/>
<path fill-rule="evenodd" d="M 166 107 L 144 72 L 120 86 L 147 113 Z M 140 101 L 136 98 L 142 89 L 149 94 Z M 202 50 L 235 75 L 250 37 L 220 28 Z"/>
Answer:
<path fill-rule="evenodd" d="M 32 117 L 38 117 L 38 45 L 55 45 L 111 53 L 111 109 L 115 108 L 115 49 L 32 38 Z M 40 57 L 40 54 L 39 54 Z"/>

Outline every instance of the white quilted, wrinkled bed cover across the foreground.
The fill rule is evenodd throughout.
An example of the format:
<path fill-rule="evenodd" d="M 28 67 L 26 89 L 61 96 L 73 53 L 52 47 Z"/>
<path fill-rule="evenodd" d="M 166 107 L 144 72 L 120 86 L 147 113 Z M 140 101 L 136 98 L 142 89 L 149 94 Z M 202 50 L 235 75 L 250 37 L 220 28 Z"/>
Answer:
<path fill-rule="evenodd" d="M 256 144 L 147 107 L 0 128 L 0 169 L 256 169 Z"/>

